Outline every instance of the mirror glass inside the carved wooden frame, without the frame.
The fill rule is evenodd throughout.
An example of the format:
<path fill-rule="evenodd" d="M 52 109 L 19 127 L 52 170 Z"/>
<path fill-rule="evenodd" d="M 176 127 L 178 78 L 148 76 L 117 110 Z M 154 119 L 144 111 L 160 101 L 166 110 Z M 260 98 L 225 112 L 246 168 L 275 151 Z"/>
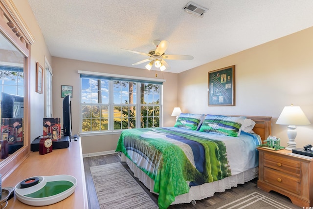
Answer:
<path fill-rule="evenodd" d="M 0 33 L 0 161 L 24 145 L 24 55 Z"/>

